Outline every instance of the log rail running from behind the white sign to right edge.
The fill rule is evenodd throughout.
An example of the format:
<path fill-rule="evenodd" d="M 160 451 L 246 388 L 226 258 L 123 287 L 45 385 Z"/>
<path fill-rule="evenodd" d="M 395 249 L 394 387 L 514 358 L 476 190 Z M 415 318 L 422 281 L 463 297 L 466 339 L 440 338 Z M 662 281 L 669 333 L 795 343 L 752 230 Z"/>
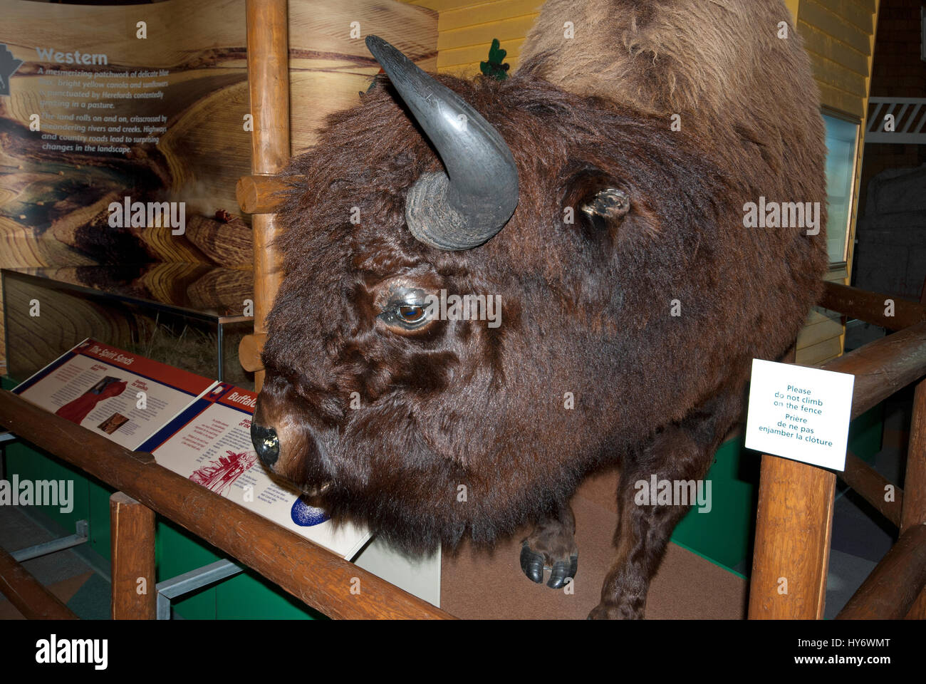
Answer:
<path fill-rule="evenodd" d="M 820 366 L 856 376 L 852 417 L 926 375 L 926 323 L 917 323 Z"/>

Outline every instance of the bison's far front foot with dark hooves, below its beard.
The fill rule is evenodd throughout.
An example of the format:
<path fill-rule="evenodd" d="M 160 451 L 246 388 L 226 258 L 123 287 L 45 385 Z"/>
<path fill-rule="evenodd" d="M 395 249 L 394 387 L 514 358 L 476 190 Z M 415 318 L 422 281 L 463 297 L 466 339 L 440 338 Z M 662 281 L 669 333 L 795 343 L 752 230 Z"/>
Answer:
<path fill-rule="evenodd" d="M 544 570 L 550 572 L 547 587 L 559 589 L 579 569 L 579 547 L 576 546 L 576 519 L 566 504 L 556 515 L 550 515 L 534 527 L 521 545 L 520 564 L 533 582 L 544 581 Z"/>

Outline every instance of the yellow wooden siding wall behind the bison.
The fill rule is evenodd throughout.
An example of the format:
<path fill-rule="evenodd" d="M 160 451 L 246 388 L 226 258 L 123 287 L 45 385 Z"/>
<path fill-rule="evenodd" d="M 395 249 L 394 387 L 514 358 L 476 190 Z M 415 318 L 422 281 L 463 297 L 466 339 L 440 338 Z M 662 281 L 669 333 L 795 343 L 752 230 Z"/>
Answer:
<path fill-rule="evenodd" d="M 472 77 L 480 73 L 480 61 L 498 38 L 507 50 L 511 70 L 518 67 L 520 47 L 536 19 L 543 0 L 403 0 L 437 10 L 437 70 Z M 577 0 L 579 2 L 581 0 Z M 693 2 L 696 0 L 692 0 Z M 804 38 L 814 76 L 820 85 L 824 108 L 859 120 L 865 131 L 865 115 L 871 81 L 871 57 L 880 0 L 784 0 Z M 857 151 L 856 193 L 861 171 L 863 141 Z M 852 209 L 853 234 L 849 235 L 848 262 L 833 268 L 828 280 L 847 283 L 852 265 L 857 196 Z M 797 361 L 820 363 L 843 351 L 842 321 L 814 310 L 797 338 Z"/>

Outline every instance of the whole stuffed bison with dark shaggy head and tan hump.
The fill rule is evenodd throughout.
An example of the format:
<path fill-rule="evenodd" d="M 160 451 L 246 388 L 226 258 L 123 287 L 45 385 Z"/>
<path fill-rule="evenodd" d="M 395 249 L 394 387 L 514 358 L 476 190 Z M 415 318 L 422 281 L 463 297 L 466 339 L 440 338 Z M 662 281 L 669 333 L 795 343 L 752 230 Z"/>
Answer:
<path fill-rule="evenodd" d="M 520 564 L 551 587 L 577 570 L 570 497 L 619 464 L 592 616 L 641 617 L 686 508 L 634 483 L 706 475 L 827 265 L 789 12 L 550 0 L 502 82 L 367 44 L 386 76 L 288 170 L 257 453 L 408 552 L 532 523 Z"/>

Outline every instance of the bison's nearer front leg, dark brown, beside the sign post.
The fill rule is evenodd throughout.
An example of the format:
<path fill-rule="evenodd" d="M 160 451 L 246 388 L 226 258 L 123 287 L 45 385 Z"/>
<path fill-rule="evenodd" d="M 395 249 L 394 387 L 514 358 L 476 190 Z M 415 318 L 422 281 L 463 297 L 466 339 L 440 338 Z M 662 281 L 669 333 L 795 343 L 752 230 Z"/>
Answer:
<path fill-rule="evenodd" d="M 618 556 L 601 589 L 601 602 L 590 619 L 642 618 L 650 579 L 665 554 L 672 530 L 690 505 L 643 505 L 636 502 L 641 488 L 657 481 L 700 480 L 707 475 L 714 452 L 739 415 L 739 396 L 713 399 L 681 424 L 657 431 L 642 451 L 630 456 L 621 469 L 618 486 Z M 655 496 L 656 492 L 650 492 Z M 677 501 L 673 501 L 677 504 Z"/>

